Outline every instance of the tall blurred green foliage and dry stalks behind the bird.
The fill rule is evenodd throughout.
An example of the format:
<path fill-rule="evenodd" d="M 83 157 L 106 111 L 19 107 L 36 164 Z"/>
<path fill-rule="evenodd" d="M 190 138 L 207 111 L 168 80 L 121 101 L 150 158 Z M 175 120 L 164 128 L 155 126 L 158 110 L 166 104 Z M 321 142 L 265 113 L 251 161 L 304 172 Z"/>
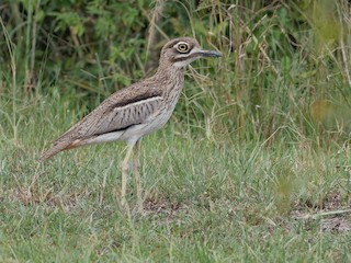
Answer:
<path fill-rule="evenodd" d="M 0 15 L 2 112 L 45 98 L 79 118 L 152 73 L 169 38 L 195 36 L 224 56 L 189 70 L 181 132 L 350 140 L 349 1 L 4 0 Z"/>

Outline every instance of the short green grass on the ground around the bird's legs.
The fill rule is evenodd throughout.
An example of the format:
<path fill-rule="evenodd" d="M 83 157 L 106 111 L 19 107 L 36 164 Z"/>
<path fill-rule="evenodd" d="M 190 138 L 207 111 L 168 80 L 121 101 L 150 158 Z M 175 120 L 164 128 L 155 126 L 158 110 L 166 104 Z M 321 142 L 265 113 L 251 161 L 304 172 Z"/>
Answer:
<path fill-rule="evenodd" d="M 273 145 L 234 135 L 214 141 L 173 118 L 143 139 L 146 209 L 134 209 L 131 175 L 125 215 L 117 202 L 123 144 L 36 162 L 70 125 L 54 118 L 61 105 L 19 108 L 18 141 L 2 126 L 0 261 L 350 261 L 351 218 L 342 213 L 350 209 L 349 148 L 286 140 L 293 127 Z"/>

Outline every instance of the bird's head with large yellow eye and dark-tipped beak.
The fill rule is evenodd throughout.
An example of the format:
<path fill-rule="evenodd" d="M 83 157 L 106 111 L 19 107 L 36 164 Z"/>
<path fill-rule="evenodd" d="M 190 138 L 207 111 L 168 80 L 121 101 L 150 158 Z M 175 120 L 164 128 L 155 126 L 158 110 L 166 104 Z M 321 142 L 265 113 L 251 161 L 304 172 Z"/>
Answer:
<path fill-rule="evenodd" d="M 191 37 L 179 37 L 168 42 L 160 55 L 160 64 L 167 62 L 176 68 L 184 68 L 192 61 L 202 57 L 220 57 L 215 50 L 202 49 L 199 42 Z"/>

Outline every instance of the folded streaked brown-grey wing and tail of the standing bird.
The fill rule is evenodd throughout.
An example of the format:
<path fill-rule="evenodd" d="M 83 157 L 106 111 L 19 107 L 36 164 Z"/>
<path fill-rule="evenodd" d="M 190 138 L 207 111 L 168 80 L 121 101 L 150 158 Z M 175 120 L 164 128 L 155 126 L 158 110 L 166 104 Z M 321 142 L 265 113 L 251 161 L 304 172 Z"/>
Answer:
<path fill-rule="evenodd" d="M 39 160 L 45 161 L 59 151 L 75 148 L 79 141 L 123 130 L 145 122 L 158 111 L 163 98 L 156 90 L 138 88 L 132 85 L 109 96 L 100 106 L 56 139 L 53 147 L 45 151 Z"/>

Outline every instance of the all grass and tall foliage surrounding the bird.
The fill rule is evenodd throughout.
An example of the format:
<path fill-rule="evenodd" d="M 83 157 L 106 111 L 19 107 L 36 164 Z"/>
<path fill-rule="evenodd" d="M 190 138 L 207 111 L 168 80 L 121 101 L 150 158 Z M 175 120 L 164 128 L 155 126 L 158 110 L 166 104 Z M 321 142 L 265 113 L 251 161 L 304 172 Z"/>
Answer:
<path fill-rule="evenodd" d="M 0 3 L 1 262 L 350 262 L 351 4 Z M 145 215 L 118 208 L 122 144 L 36 162 L 194 36 L 165 129 L 143 141 Z"/>

